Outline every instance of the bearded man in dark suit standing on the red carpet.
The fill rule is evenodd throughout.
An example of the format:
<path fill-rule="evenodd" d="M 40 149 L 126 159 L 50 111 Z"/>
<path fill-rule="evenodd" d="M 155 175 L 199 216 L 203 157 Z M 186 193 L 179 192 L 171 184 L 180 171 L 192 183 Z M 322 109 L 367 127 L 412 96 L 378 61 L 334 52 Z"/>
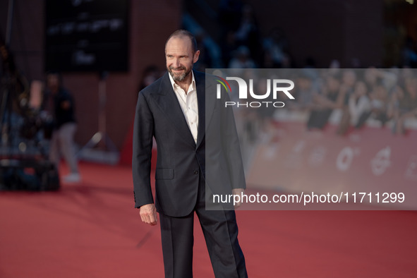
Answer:
<path fill-rule="evenodd" d="M 165 277 L 193 277 L 194 212 L 215 276 L 248 277 L 233 207 L 206 209 L 213 193 L 241 194 L 246 184 L 233 113 L 224 107 L 228 96 L 215 98 L 215 79 L 207 77 L 206 83 L 204 73 L 193 71 L 199 54 L 193 35 L 177 30 L 165 44 L 168 72 L 139 93 L 133 133 L 135 207 L 150 225 L 157 224 L 159 212 Z M 155 205 L 152 137 L 157 142 Z"/>

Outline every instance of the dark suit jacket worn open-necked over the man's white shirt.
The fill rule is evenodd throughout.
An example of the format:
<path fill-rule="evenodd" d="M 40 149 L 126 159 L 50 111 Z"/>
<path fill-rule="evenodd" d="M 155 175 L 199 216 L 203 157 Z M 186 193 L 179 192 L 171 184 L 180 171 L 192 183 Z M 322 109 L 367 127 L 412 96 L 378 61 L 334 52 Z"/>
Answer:
<path fill-rule="evenodd" d="M 168 74 L 145 87 L 138 96 L 133 131 L 133 187 L 135 207 L 154 203 L 150 173 L 155 137 L 157 211 L 182 217 L 195 207 L 200 174 L 212 193 L 230 194 L 231 188 L 246 188 L 246 182 L 233 111 L 224 107 L 229 96 L 222 91 L 222 98 L 217 99 L 215 78 L 194 71 L 198 99 L 195 143 Z"/>

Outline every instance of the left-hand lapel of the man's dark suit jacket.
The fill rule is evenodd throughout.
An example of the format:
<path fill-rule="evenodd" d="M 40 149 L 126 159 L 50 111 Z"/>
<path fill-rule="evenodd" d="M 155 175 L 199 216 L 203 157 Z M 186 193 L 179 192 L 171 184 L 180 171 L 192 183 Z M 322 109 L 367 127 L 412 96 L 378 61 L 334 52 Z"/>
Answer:
<path fill-rule="evenodd" d="M 168 74 L 169 73 L 167 72 L 162 77 L 162 83 L 158 91 L 159 99 L 157 99 L 157 104 L 162 109 L 165 116 L 167 116 L 167 119 L 176 126 L 176 131 L 179 132 L 179 135 L 181 135 L 187 143 L 195 147 L 193 135 L 191 134 L 190 128 L 188 128 L 186 118 L 184 117 Z M 198 108 L 200 109 L 200 106 Z"/>

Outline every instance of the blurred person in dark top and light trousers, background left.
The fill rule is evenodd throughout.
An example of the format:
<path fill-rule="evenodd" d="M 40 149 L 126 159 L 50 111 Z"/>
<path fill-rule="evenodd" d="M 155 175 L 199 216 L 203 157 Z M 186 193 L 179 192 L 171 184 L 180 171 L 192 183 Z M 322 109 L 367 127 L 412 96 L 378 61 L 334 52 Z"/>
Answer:
<path fill-rule="evenodd" d="M 67 183 L 81 180 L 78 162 L 75 157 L 74 134 L 77 123 L 74 116 L 74 102 L 71 94 L 62 87 L 61 75 L 57 72 L 47 73 L 47 86 L 42 102 L 44 119 L 52 123 L 49 160 L 59 169 L 61 153 L 70 169 L 70 174 L 64 176 Z"/>

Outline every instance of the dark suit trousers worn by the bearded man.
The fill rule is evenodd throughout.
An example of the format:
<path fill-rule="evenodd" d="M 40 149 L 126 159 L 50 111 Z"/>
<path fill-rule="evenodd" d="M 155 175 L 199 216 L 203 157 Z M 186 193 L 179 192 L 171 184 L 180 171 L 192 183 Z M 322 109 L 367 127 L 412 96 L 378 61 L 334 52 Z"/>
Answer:
<path fill-rule="evenodd" d="M 200 174 L 195 208 L 186 217 L 159 214 L 166 278 L 193 277 L 194 212 L 200 221 L 216 278 L 248 277 L 238 243 L 234 210 L 205 210 L 205 182 Z"/>

